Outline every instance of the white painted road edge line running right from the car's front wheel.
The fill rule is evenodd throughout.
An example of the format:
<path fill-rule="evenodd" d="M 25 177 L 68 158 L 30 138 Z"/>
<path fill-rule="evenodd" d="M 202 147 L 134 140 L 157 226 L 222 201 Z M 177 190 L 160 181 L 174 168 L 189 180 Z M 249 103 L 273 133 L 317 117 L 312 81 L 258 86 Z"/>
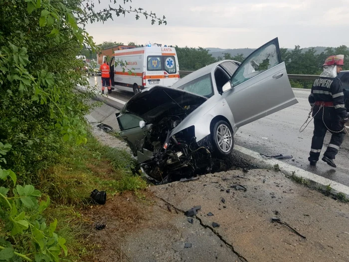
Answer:
<path fill-rule="evenodd" d="M 309 179 L 312 182 L 315 182 L 318 185 L 321 186 L 328 186 L 331 185 L 331 188 L 333 188 L 333 190 L 335 192 L 342 192 L 343 194 L 345 194 L 347 197 L 349 197 L 349 187 L 345 186 L 343 184 L 340 184 L 338 182 L 335 182 L 333 180 L 321 177 L 319 175 L 316 175 L 314 173 L 311 173 L 309 171 L 305 171 L 301 168 L 292 166 L 290 164 L 284 163 L 280 160 L 276 160 L 276 159 L 265 159 L 263 158 L 259 153 L 254 152 L 252 150 L 249 150 L 247 148 L 241 147 L 241 146 L 234 146 L 234 149 L 242 154 L 245 154 L 247 156 L 250 156 L 252 158 L 254 158 L 258 163 L 262 164 L 265 167 L 274 167 L 274 165 L 279 165 L 280 171 L 286 175 L 292 175 L 293 172 L 295 172 L 295 175 L 298 177 L 303 177 L 305 179 Z"/>

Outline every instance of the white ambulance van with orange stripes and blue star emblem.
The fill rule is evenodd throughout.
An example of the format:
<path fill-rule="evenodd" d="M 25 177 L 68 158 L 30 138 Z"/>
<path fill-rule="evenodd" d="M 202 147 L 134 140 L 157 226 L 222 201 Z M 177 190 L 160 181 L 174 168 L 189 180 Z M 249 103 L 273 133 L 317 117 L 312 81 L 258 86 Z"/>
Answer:
<path fill-rule="evenodd" d="M 119 61 L 123 61 L 126 66 L 121 66 Z M 148 44 L 145 47 L 115 51 L 109 65 L 110 71 L 114 71 L 112 86 L 135 94 L 154 85 L 172 86 L 179 80 L 177 54 L 174 47 L 166 45 Z"/>

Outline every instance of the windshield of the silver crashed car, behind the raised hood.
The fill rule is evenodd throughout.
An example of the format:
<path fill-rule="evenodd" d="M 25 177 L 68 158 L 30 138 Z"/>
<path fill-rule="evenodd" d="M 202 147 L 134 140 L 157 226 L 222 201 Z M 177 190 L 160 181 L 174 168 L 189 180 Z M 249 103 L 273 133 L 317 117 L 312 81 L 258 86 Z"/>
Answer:
<path fill-rule="evenodd" d="M 213 95 L 211 74 L 203 75 L 177 88 L 210 98 Z"/>

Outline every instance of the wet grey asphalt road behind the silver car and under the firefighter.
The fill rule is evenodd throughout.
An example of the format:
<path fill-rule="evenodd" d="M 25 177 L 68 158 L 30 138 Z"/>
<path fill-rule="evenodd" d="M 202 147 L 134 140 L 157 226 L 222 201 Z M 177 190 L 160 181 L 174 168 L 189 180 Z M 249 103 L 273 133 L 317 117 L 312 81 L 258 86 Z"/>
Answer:
<path fill-rule="evenodd" d="M 97 90 L 101 91 L 100 76 L 90 77 L 89 81 L 91 85 L 97 84 Z M 308 103 L 310 90 L 293 90 L 298 104 L 241 127 L 234 136 L 235 144 L 269 156 L 292 155 L 293 159 L 283 161 L 349 186 L 349 137 L 346 136 L 336 157 L 337 168 L 332 168 L 321 160 L 316 167 L 311 167 L 308 155 L 313 135 L 313 122 L 302 133 L 299 132 L 310 111 Z M 113 90 L 112 94 L 108 95 L 108 100 L 115 106 L 122 107 L 132 96 L 132 92 Z M 330 138 L 328 133 L 322 153 L 325 152 Z"/>

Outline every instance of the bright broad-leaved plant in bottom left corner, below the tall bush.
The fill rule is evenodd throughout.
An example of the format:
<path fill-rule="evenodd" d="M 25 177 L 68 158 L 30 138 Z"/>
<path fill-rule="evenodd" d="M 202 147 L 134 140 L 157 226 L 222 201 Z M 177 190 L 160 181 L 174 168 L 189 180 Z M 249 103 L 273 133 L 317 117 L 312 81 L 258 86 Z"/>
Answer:
<path fill-rule="evenodd" d="M 9 149 L 0 143 L 2 155 Z M 0 219 L 5 222 L 0 232 L 1 261 L 58 261 L 61 250 L 67 256 L 65 239 L 55 233 L 57 220 L 47 227 L 42 216 L 50 198 L 39 202 L 41 193 L 32 185 L 15 186 L 17 178 L 11 170 L 0 168 L 0 179 L 7 182 L 7 187 L 0 187 Z"/>

